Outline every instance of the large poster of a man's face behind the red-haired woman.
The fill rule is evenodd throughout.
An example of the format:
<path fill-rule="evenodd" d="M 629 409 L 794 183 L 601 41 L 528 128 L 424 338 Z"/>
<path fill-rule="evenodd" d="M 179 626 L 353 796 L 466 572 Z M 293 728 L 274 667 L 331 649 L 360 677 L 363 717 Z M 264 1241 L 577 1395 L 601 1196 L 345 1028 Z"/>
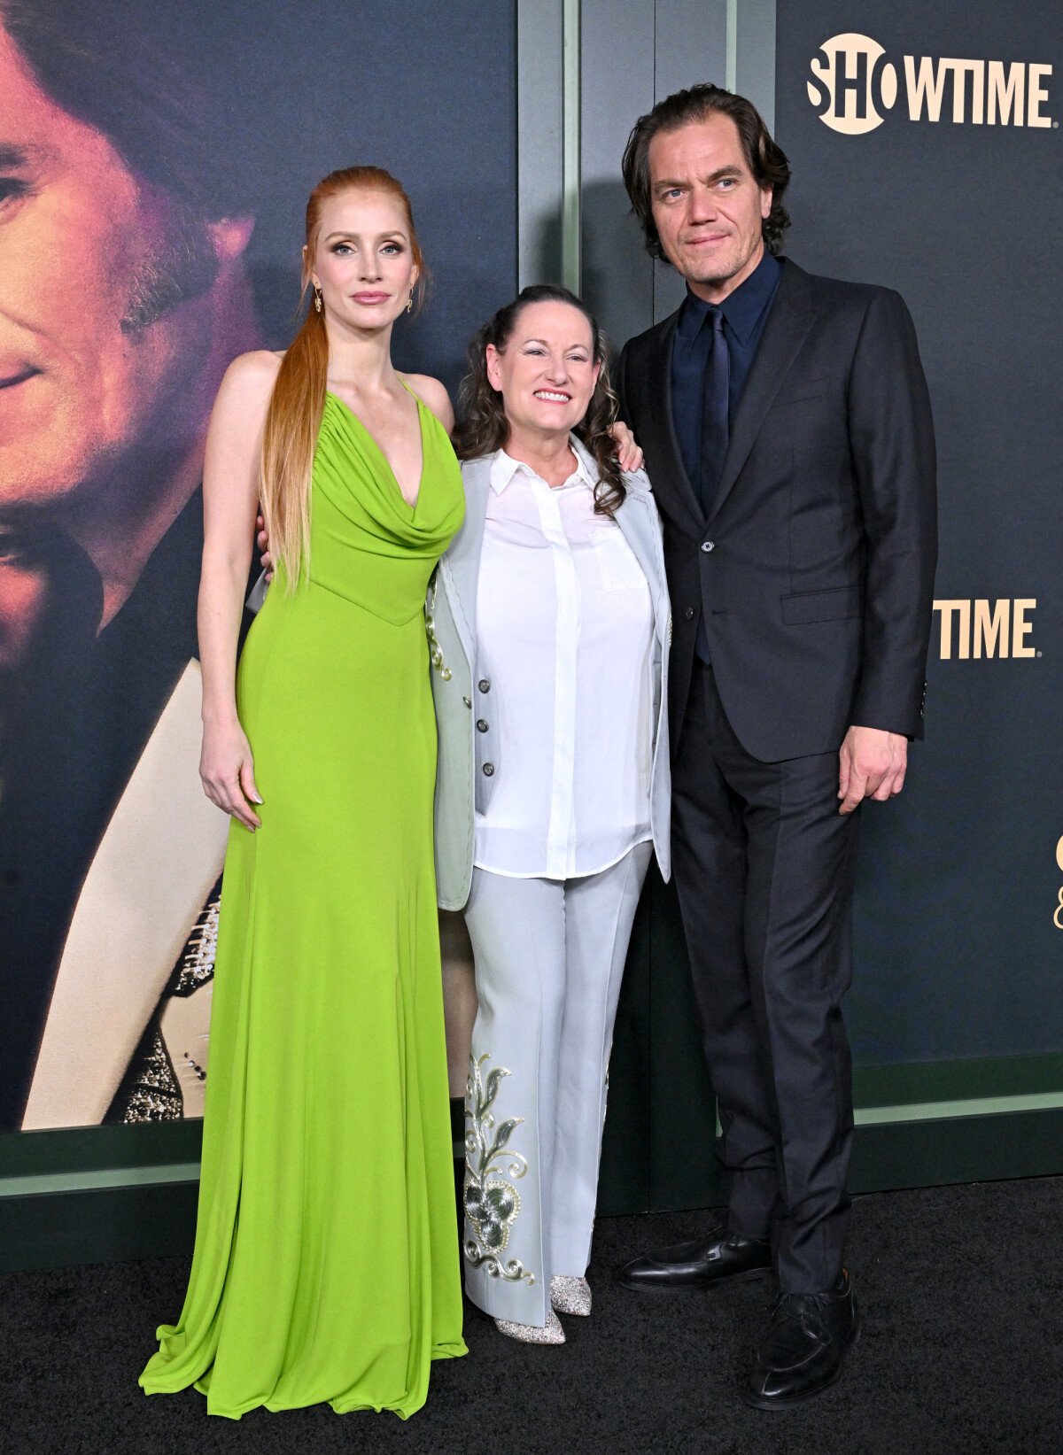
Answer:
<path fill-rule="evenodd" d="M 363 162 L 435 275 L 396 359 L 453 388 L 514 291 L 514 138 L 467 86 L 470 47 L 511 84 L 508 10 L 0 0 L 0 1131 L 201 1110 L 211 403 L 294 332 L 306 196 Z"/>

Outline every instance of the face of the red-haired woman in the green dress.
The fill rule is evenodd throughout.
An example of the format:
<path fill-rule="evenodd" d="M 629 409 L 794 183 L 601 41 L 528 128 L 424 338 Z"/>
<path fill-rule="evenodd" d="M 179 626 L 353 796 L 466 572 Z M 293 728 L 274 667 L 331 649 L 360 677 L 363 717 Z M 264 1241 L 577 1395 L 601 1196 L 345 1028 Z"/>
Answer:
<path fill-rule="evenodd" d="M 310 262 L 306 255 L 304 260 Z M 387 327 L 405 310 L 416 279 L 398 196 L 351 188 L 322 204 L 310 281 L 322 291 L 326 324 Z"/>

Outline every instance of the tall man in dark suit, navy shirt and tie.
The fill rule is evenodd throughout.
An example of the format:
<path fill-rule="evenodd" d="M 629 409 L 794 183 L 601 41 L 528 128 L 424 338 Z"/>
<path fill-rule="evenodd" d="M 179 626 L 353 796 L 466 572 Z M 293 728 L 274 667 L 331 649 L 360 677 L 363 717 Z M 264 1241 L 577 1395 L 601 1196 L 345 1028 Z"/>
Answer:
<path fill-rule="evenodd" d="M 743 1394 L 842 1372 L 852 1142 L 842 995 L 861 802 L 922 736 L 935 453 L 916 336 L 888 290 L 776 256 L 786 157 L 750 102 L 696 86 L 623 159 L 652 256 L 687 297 L 632 339 L 619 388 L 664 518 L 673 602 L 673 851 L 728 1212 L 620 1270 L 705 1288 L 775 1267 Z"/>

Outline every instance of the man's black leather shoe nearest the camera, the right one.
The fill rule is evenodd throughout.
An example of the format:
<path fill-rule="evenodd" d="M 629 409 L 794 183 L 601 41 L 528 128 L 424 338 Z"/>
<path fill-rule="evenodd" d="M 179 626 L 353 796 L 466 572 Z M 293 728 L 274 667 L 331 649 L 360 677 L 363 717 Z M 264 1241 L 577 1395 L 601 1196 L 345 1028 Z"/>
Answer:
<path fill-rule="evenodd" d="M 782 1410 L 823 1394 L 840 1376 L 859 1334 L 847 1273 L 827 1293 L 779 1293 L 743 1398 L 757 1410 Z"/>

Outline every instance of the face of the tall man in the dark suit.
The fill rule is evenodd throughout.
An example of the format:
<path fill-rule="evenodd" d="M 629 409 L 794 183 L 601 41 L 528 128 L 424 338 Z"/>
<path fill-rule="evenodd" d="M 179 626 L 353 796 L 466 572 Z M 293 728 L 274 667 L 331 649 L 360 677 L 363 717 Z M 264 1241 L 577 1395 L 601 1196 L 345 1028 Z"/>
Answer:
<path fill-rule="evenodd" d="M 757 186 L 738 128 L 719 112 L 649 143 L 649 198 L 661 247 L 693 292 L 719 303 L 760 262 L 772 189 Z"/>

